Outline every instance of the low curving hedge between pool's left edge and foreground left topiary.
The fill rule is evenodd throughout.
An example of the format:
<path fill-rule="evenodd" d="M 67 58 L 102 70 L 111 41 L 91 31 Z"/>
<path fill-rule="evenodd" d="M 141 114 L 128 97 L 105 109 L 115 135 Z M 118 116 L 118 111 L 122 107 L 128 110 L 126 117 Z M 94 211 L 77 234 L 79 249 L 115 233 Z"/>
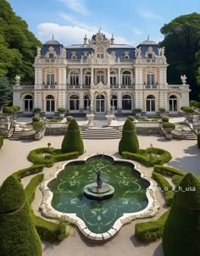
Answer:
<path fill-rule="evenodd" d="M 31 208 L 31 203 L 35 198 L 36 187 L 43 181 L 43 178 L 43 174 L 36 175 L 25 187 L 26 200 L 30 204 L 31 209 L 31 219 L 33 220 L 34 225 L 36 226 L 36 231 L 38 232 L 38 235 L 41 237 L 43 241 L 60 242 L 64 239 L 64 237 L 68 236 L 66 232 L 66 221 L 59 220 L 58 223 L 55 223 L 44 220 L 41 217 L 34 214 L 34 211 Z"/>

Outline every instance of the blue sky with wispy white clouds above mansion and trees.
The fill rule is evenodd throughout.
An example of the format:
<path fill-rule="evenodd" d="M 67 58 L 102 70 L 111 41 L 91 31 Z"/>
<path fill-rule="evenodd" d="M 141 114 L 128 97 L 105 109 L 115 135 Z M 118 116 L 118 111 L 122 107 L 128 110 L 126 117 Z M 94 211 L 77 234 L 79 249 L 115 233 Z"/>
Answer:
<path fill-rule="evenodd" d="M 82 43 L 101 26 L 115 43 L 136 46 L 147 39 L 159 42 L 160 28 L 182 14 L 200 13 L 199 0 L 8 0 L 14 12 L 42 41 Z"/>

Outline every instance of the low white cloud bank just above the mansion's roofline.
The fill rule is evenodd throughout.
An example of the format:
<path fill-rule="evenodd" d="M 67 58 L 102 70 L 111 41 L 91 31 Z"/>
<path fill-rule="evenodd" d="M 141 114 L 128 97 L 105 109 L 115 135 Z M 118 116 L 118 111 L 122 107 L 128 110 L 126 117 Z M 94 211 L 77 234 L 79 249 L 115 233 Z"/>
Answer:
<path fill-rule="evenodd" d="M 80 25 L 58 25 L 55 23 L 41 23 L 37 26 L 37 36 L 42 42 L 51 40 L 52 35 L 55 40 L 66 45 L 83 43 L 83 37 L 86 35 L 88 39 L 92 38 L 92 35 L 97 34 L 98 28 Z M 103 31 L 103 34 L 107 38 L 111 38 L 112 34 Z M 123 36 L 114 36 L 116 43 L 125 43 L 134 45 L 135 42 L 131 42 L 125 39 Z"/>

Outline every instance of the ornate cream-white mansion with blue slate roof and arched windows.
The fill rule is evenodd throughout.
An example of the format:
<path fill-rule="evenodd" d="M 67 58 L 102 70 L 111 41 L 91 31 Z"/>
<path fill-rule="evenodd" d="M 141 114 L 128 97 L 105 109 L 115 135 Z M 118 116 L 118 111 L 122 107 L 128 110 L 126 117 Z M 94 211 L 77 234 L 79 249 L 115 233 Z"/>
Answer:
<path fill-rule="evenodd" d="M 23 114 L 42 109 L 54 114 L 58 108 L 70 114 L 117 114 L 142 109 L 156 114 L 159 108 L 178 114 L 181 106 L 189 105 L 186 75 L 181 85 L 168 85 L 164 47 L 156 42 L 142 42 L 138 47 L 115 44 L 101 31 L 84 38 L 83 44 L 64 47 L 58 41 L 37 47 L 34 63 L 35 85 L 19 85 L 16 76 L 14 105 Z"/>

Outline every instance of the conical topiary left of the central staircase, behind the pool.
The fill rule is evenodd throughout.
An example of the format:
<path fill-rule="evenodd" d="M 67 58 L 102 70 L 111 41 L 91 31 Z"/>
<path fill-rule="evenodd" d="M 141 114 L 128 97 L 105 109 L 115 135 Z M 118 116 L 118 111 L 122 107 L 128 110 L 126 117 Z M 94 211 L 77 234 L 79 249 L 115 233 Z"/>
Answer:
<path fill-rule="evenodd" d="M 81 131 L 76 120 L 70 121 L 66 135 L 61 146 L 63 153 L 78 151 L 81 155 L 84 153 L 84 145 L 81 138 Z"/>

